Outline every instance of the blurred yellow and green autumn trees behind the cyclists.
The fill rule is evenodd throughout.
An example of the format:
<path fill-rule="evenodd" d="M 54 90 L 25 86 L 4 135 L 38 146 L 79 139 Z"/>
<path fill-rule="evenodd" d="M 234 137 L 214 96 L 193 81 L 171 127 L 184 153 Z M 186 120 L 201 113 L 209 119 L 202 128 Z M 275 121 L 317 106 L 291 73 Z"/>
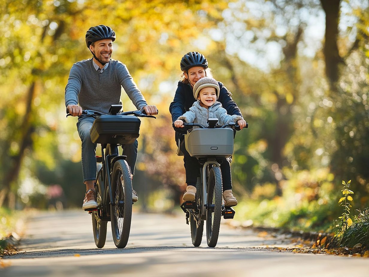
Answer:
<path fill-rule="evenodd" d="M 142 119 L 134 188 L 144 211 L 178 209 L 185 189 L 169 104 L 190 51 L 206 56 L 250 126 L 232 162 L 244 225 L 327 230 L 369 198 L 369 9 L 364 0 L 1 0 L 0 206 L 82 205 L 76 118 L 65 117 L 86 31 L 114 29 L 125 63 L 159 116 Z M 122 93 L 124 110 L 135 107 Z"/>

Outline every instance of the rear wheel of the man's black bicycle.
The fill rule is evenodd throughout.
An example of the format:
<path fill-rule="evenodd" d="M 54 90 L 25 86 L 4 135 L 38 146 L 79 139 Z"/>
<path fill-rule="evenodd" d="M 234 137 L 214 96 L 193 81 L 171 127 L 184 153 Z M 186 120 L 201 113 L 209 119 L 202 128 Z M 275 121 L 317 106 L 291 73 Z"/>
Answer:
<path fill-rule="evenodd" d="M 101 172 L 101 171 L 100 171 Z M 100 173 L 101 174 L 101 173 Z M 103 248 L 106 241 L 106 225 L 107 221 L 102 221 L 100 217 L 103 214 L 102 198 L 103 192 L 99 183 L 99 178 L 96 178 L 96 199 L 97 199 L 97 212 L 92 212 L 92 230 L 95 244 L 98 248 Z M 100 213 L 100 216 L 99 216 Z"/>

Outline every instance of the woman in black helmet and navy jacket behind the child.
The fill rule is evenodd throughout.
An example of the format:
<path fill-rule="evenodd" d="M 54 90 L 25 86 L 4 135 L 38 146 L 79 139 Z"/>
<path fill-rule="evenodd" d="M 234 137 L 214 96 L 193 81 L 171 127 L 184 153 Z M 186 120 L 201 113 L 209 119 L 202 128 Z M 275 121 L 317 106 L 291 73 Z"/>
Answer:
<path fill-rule="evenodd" d="M 176 94 L 173 102 L 170 103 L 169 111 L 172 114 L 172 121 L 176 121 L 178 117 L 182 116 L 186 111 L 189 111 L 196 99 L 193 96 L 193 86 L 196 82 L 203 77 L 211 77 L 210 68 L 208 68 L 208 62 L 206 58 L 199 52 L 189 52 L 182 57 L 181 70 L 183 72 L 181 81 L 178 82 Z M 219 98 L 218 101 L 222 104 L 223 108 L 227 110 L 227 114 L 238 115 L 242 117 L 241 111 L 237 107 L 237 104 L 232 100 L 231 93 L 221 83 L 219 84 Z M 241 128 L 245 127 L 244 124 L 240 125 Z M 184 154 L 184 167 L 186 168 L 186 184 L 187 189 L 183 195 L 183 201 L 193 201 L 196 196 L 196 181 L 199 176 L 199 161 L 191 157 L 184 148 L 183 135 L 176 133 L 176 142 L 180 146 L 181 151 Z M 225 206 L 236 206 L 237 199 L 232 193 L 232 180 L 231 180 L 231 167 L 230 161 L 224 159 L 220 166 L 223 180 L 223 198 Z"/>

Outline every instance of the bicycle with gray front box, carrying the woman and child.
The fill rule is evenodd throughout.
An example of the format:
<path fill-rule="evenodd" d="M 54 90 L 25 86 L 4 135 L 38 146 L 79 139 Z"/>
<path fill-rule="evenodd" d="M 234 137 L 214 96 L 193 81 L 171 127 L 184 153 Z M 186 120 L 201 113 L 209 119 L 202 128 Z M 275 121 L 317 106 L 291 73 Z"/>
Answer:
<path fill-rule="evenodd" d="M 197 123 L 184 123 L 184 128 L 173 127 L 184 134 L 187 152 L 196 157 L 200 164 L 200 177 L 196 183 L 195 201 L 183 202 L 181 208 L 186 213 L 186 223 L 191 228 L 192 244 L 200 246 L 206 221 L 206 239 L 209 247 L 218 242 L 221 216 L 232 219 L 235 210 L 224 206 L 223 188 L 220 170 L 220 158 L 233 154 L 234 130 L 239 125 L 231 122 L 223 126 L 216 125 L 218 118 L 209 118 L 209 127 Z M 200 128 L 193 128 L 193 127 Z M 248 128 L 248 123 L 246 123 Z"/>

